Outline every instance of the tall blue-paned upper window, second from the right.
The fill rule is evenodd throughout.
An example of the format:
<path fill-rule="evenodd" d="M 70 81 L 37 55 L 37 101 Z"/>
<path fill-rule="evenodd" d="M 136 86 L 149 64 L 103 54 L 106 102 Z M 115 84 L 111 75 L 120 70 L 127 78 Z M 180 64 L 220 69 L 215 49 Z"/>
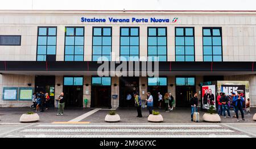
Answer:
<path fill-rule="evenodd" d="M 175 58 L 176 61 L 195 61 L 193 27 L 175 28 Z"/>

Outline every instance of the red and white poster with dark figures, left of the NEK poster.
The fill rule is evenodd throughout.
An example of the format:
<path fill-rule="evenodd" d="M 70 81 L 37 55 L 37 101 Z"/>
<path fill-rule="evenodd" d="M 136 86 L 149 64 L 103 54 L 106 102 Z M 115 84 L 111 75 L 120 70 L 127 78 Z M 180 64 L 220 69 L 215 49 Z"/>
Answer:
<path fill-rule="evenodd" d="M 211 105 L 215 106 L 215 86 L 202 86 L 202 95 L 203 95 L 203 109 L 209 109 Z"/>

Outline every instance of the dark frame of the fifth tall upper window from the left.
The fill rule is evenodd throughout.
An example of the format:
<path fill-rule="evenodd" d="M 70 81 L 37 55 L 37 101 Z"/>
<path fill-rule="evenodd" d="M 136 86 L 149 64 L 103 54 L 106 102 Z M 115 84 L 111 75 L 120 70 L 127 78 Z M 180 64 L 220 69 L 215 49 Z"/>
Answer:
<path fill-rule="evenodd" d="M 156 35 L 155 36 L 149 36 L 150 28 L 156 28 Z M 158 36 L 158 29 L 159 28 L 165 28 L 166 29 L 166 35 L 165 36 Z M 148 55 L 148 46 L 153 46 L 153 45 L 148 45 L 148 37 L 156 37 L 156 45 L 155 45 L 156 46 L 156 55 Z M 155 61 L 155 62 L 167 62 L 168 61 L 168 59 L 167 59 L 167 55 L 168 55 L 167 27 L 147 27 L 147 61 L 148 61 L 148 56 L 156 56 L 156 57 L 164 56 L 164 55 L 159 55 L 158 54 L 158 46 L 163 46 L 163 45 L 158 45 L 158 37 L 166 37 L 166 61 L 159 61 L 159 59 L 158 59 L 158 61 Z M 152 59 L 152 62 L 154 62 L 153 59 Z"/>

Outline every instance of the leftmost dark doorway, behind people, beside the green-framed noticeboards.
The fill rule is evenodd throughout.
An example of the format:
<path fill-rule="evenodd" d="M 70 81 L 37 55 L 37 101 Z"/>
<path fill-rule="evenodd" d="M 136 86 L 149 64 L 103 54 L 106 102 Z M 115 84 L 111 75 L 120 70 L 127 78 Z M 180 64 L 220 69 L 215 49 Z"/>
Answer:
<path fill-rule="evenodd" d="M 49 107 L 54 107 L 55 76 L 54 75 L 35 76 L 35 92 L 48 93 L 50 97 Z"/>

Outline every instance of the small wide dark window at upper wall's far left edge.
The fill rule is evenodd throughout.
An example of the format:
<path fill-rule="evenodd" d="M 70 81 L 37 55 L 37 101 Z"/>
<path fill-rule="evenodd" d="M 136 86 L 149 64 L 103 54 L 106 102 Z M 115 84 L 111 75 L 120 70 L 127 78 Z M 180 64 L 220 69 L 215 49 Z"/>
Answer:
<path fill-rule="evenodd" d="M 0 35 L 0 45 L 20 45 L 19 35 Z"/>

